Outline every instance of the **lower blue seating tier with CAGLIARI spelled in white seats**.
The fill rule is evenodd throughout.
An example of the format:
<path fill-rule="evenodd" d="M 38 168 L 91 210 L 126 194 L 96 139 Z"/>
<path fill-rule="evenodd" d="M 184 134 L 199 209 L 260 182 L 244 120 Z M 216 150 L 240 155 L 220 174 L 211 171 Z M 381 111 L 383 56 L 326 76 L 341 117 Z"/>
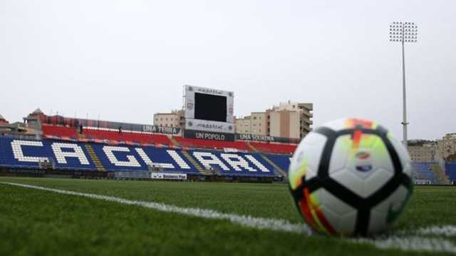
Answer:
<path fill-rule="evenodd" d="M 91 152 L 90 152 L 91 151 Z M 153 146 L 108 145 L 64 140 L 23 140 L 0 136 L 0 166 L 39 168 L 51 163 L 55 170 L 146 171 L 201 174 L 183 150 Z M 193 160 L 222 175 L 273 177 L 274 168 L 258 153 L 224 153 L 217 150 L 188 150 Z"/>

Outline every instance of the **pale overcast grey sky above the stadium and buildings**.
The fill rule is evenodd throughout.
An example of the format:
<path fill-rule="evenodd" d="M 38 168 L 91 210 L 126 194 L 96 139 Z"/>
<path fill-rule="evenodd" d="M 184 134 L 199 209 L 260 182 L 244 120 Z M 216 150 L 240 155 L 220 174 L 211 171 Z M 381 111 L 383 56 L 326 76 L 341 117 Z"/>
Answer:
<path fill-rule="evenodd" d="M 152 123 L 182 106 L 182 85 L 234 91 L 237 116 L 314 103 L 314 124 L 371 118 L 402 137 L 400 44 L 409 138 L 456 132 L 456 2 L 0 1 L 0 114 Z"/>

